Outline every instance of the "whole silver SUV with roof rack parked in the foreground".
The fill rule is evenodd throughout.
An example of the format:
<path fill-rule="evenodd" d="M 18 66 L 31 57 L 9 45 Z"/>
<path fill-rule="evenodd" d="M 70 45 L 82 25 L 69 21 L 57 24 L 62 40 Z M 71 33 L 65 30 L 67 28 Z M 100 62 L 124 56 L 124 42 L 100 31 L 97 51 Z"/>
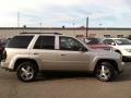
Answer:
<path fill-rule="evenodd" d="M 3 51 L 1 66 L 15 71 L 23 82 L 34 81 L 40 70 L 87 71 L 104 82 L 122 71 L 120 54 L 90 49 L 81 40 L 58 33 L 14 36 Z"/>

